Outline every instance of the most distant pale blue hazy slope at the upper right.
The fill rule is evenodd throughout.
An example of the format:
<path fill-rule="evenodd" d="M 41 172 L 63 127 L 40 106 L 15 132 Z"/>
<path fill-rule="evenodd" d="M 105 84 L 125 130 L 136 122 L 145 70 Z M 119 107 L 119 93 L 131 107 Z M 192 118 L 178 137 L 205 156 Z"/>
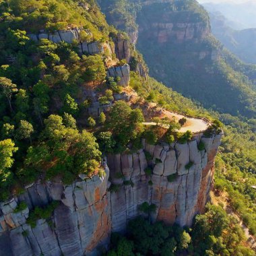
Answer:
<path fill-rule="evenodd" d="M 256 28 L 234 30 L 220 13 L 210 13 L 212 33 L 224 46 L 246 63 L 256 64 Z"/>

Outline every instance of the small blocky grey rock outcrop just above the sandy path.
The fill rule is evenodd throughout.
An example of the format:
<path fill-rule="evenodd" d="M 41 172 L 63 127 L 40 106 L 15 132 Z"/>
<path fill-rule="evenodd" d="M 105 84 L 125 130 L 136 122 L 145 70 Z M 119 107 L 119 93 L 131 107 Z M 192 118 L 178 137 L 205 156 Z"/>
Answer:
<path fill-rule="evenodd" d="M 130 66 L 125 64 L 123 66 L 110 67 L 107 72 L 107 77 L 119 77 L 120 81 L 117 83 L 117 85 L 127 87 L 129 86 L 130 82 Z"/>

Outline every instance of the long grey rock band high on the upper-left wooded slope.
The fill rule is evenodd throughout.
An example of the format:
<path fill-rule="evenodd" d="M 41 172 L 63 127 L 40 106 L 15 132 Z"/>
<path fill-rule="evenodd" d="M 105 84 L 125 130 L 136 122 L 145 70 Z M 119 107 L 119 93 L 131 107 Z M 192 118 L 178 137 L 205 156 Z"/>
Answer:
<path fill-rule="evenodd" d="M 55 43 L 67 42 L 71 44 L 73 42 L 77 42 L 79 51 L 83 54 L 95 55 L 100 53 L 108 53 L 109 55 L 112 55 L 113 53 L 115 53 L 115 48 L 108 42 L 100 43 L 98 41 L 82 41 L 80 38 L 81 31 L 85 31 L 88 35 L 91 35 L 91 33 L 86 30 L 73 28 L 69 30 L 59 30 L 55 32 L 46 32 L 44 30 L 40 30 L 38 34 L 28 34 L 28 37 L 35 41 L 46 38 Z"/>

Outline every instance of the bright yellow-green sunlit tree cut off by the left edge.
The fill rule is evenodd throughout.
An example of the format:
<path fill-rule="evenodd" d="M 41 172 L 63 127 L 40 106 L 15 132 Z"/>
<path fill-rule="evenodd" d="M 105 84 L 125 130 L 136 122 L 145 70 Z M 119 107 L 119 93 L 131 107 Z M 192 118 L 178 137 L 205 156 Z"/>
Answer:
<path fill-rule="evenodd" d="M 18 148 L 15 148 L 15 143 L 11 139 L 0 141 L 0 174 L 11 168 L 14 162 L 13 153 L 17 150 Z"/>

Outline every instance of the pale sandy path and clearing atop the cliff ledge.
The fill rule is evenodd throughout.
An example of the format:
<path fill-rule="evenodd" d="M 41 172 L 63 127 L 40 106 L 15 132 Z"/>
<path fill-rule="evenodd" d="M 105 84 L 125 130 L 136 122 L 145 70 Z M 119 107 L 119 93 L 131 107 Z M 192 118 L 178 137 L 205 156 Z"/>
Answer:
<path fill-rule="evenodd" d="M 208 123 L 207 121 L 205 121 L 203 119 L 186 117 L 184 115 L 172 113 L 167 110 L 162 110 L 162 113 L 170 119 L 172 119 L 172 117 L 175 117 L 177 119 L 177 121 L 179 121 L 180 119 L 185 117 L 187 119 L 187 123 L 185 123 L 185 125 L 183 125 L 183 127 L 181 127 L 181 129 L 179 130 L 183 133 L 187 130 L 192 131 L 192 133 L 199 133 L 200 131 L 205 131 L 207 129 L 207 127 L 209 127 L 209 125 L 210 125 L 210 123 Z M 157 124 L 154 122 L 145 122 L 145 123 L 143 123 L 143 125 L 157 125 Z"/>

